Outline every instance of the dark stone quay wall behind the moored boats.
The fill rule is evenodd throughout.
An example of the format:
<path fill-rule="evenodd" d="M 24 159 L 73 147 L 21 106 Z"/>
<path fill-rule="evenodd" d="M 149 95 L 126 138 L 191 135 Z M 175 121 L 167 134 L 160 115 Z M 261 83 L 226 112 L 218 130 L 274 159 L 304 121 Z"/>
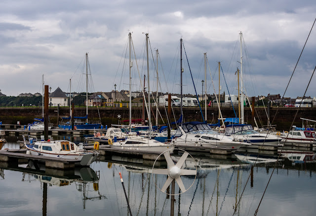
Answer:
<path fill-rule="evenodd" d="M 276 118 L 273 122 L 273 125 L 276 125 L 277 130 L 289 130 L 293 118 L 297 112 L 296 107 L 270 107 L 270 119 Z M 204 108 L 202 108 L 204 115 Z M 74 116 L 85 116 L 86 109 L 85 107 L 76 107 Z M 223 107 L 221 108 L 223 118 L 226 117 L 235 117 L 233 108 Z M 255 118 L 259 127 L 261 125 L 267 125 L 267 108 L 256 107 L 255 108 Z M 34 118 L 42 117 L 41 107 L 0 107 L 0 122 L 2 124 L 17 124 L 19 121 L 21 125 L 27 125 L 33 122 Z M 118 124 L 120 120 L 128 120 L 129 108 L 127 107 L 105 107 L 105 108 L 96 108 L 90 107 L 88 111 L 89 120 L 99 120 L 99 114 L 102 124 L 110 126 L 111 124 Z M 132 107 L 132 118 L 141 119 L 142 118 L 142 108 L 141 107 Z M 164 122 L 166 122 L 166 111 L 163 107 L 159 107 L 159 115 L 161 115 Z M 215 107 L 207 107 L 207 122 L 211 123 L 216 121 L 218 118 L 218 109 Z M 237 113 L 237 110 L 236 110 Z M 59 114 L 59 119 L 57 120 Z M 198 107 L 184 107 L 183 108 L 184 120 L 189 121 L 202 121 L 202 116 L 200 114 Z M 147 115 L 146 115 L 147 116 Z M 152 107 L 152 121 L 156 125 L 156 107 Z M 180 116 L 180 108 L 173 108 L 171 118 L 172 121 L 178 120 Z M 61 121 L 61 117 L 69 117 L 69 107 L 49 107 L 49 122 L 53 123 L 54 126 L 57 126 L 58 121 Z M 237 115 L 238 117 L 238 115 Z M 204 117 L 205 118 L 205 117 Z M 316 108 L 300 108 L 297 117 L 294 121 L 294 125 L 297 127 L 302 127 L 302 120 L 300 118 L 306 118 L 311 120 L 316 120 Z M 244 108 L 244 119 L 247 123 L 254 125 L 251 120 L 251 110 L 249 107 Z M 128 124 L 128 123 L 123 123 Z M 161 118 L 159 118 L 159 124 L 163 124 Z"/>

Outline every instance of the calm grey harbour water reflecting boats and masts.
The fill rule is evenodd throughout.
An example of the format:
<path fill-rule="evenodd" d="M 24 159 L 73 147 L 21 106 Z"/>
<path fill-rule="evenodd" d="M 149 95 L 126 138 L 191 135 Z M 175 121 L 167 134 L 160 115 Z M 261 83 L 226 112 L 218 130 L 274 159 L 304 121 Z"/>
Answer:
<path fill-rule="evenodd" d="M 16 140 L 22 139 L 5 138 L 9 144 L 2 149 L 16 148 Z M 78 137 L 70 139 L 80 141 Z M 268 163 L 264 162 L 267 159 L 262 159 L 262 163 L 252 168 L 250 157 L 233 156 L 225 160 L 205 155 L 194 158 L 197 178 L 194 181 L 192 176 L 182 177 L 186 188 L 193 184 L 187 192 L 175 196 L 174 215 L 232 216 L 240 198 L 236 215 L 254 215 L 273 171 L 273 159 Z M 194 161 L 188 158 L 186 167 L 190 169 L 193 165 Z M 171 197 L 155 186 L 156 183 L 161 188 L 166 176 L 152 175 L 152 165 L 142 159 L 101 157 L 91 169 L 76 169 L 75 174 L 67 177 L 45 175 L 41 167 L 37 172 L 26 170 L 32 166 L 21 164 L 19 169 L 10 170 L 3 169 L 0 164 L 0 215 L 127 216 L 118 172 L 123 175 L 133 216 L 170 215 Z M 282 160 L 276 167 L 257 215 L 315 215 L 316 164 Z M 175 191 L 179 192 L 177 184 Z"/>

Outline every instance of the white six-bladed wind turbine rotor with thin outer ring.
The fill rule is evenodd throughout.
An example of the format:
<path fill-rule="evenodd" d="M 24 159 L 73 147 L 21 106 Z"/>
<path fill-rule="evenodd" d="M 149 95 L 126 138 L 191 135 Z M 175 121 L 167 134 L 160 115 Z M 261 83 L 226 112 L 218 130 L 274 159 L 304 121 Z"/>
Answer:
<path fill-rule="evenodd" d="M 182 149 L 179 149 L 179 150 L 184 151 Z M 154 169 L 157 159 L 162 154 L 163 154 L 165 160 L 167 161 L 168 168 L 167 169 Z M 164 185 L 162 186 L 161 189 L 158 188 L 159 190 L 161 190 L 163 193 L 166 193 L 165 191 L 167 190 L 168 186 L 170 185 L 170 183 L 172 182 L 173 179 L 175 179 L 175 181 L 177 182 L 177 184 L 178 184 L 178 186 L 179 186 L 179 188 L 181 190 L 181 193 L 179 193 L 179 194 L 182 194 L 182 193 L 186 192 L 193 185 L 193 183 L 194 183 L 194 181 L 195 181 L 195 179 L 197 177 L 197 164 L 195 164 L 195 167 L 196 167 L 195 170 L 181 169 L 183 167 L 184 162 L 186 161 L 186 159 L 187 159 L 187 157 L 189 155 L 190 154 L 188 152 L 184 151 L 183 155 L 181 156 L 181 158 L 179 159 L 177 164 L 174 164 L 173 160 L 171 159 L 171 157 L 170 157 L 170 150 L 167 150 L 167 151 L 161 153 L 158 156 L 158 158 L 156 159 L 156 161 L 155 161 L 155 163 L 153 165 L 152 174 L 165 174 L 165 175 L 168 175 L 168 178 L 167 178 L 166 182 L 164 183 Z M 195 162 L 195 160 L 194 160 L 194 162 Z M 184 184 L 182 182 L 182 179 L 181 179 L 181 175 L 195 175 L 195 179 L 194 179 L 193 183 L 191 184 L 191 186 L 188 189 L 185 188 L 185 186 L 184 186 Z M 155 184 L 156 184 L 156 182 L 155 182 Z M 157 184 L 156 184 L 156 187 L 158 187 Z M 178 194 L 169 194 L 169 195 L 178 195 Z"/>

